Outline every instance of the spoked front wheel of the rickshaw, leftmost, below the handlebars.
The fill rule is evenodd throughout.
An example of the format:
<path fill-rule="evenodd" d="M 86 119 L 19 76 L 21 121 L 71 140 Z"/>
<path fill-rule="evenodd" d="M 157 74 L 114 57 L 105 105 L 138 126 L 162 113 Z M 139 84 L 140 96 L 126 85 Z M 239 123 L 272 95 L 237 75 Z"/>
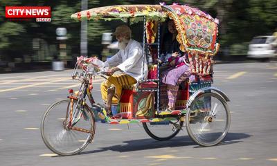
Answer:
<path fill-rule="evenodd" d="M 93 139 L 95 121 L 87 106 L 80 109 L 78 100 L 66 99 L 53 103 L 42 118 L 41 133 L 45 145 L 55 154 L 78 154 Z M 74 110 L 80 109 L 73 121 Z"/>

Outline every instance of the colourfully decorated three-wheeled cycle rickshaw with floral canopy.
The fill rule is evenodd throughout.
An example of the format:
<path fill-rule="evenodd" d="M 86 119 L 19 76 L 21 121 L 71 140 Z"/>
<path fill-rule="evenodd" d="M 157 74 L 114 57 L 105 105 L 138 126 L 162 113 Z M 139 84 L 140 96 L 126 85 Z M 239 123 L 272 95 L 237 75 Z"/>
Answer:
<path fill-rule="evenodd" d="M 211 86 L 213 56 L 219 47 L 217 21 L 213 17 L 178 4 L 107 6 L 77 12 L 71 17 L 77 21 L 143 22 L 143 58 L 149 64 L 148 79 L 124 87 L 115 107 L 117 114 L 109 118 L 91 95 L 93 77 L 105 76 L 93 64 L 95 59 L 78 59 L 72 77 L 81 82 L 79 91 L 70 90 L 67 99 L 51 104 L 42 119 L 42 138 L 51 151 L 62 156 L 82 151 L 93 140 L 99 118 L 109 124 L 142 123 L 148 135 L 156 140 L 169 140 L 184 126 L 190 138 L 201 146 L 217 145 L 224 139 L 230 126 L 226 104 L 229 98 Z M 159 58 L 160 25 L 168 18 L 175 23 L 180 49 L 188 53 L 190 70 L 195 75 L 192 82 L 182 83 L 174 111 L 159 110 L 159 65 L 152 64 Z"/>

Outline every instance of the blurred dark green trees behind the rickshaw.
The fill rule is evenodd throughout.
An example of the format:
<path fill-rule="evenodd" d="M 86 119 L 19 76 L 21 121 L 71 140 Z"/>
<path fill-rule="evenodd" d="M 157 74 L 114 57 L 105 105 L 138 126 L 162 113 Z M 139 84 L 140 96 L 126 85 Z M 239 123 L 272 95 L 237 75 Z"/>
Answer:
<path fill-rule="evenodd" d="M 118 4 L 159 4 L 157 0 L 88 0 L 88 8 L 112 6 Z M 257 35 L 271 35 L 277 27 L 276 0 L 165 0 L 167 4 L 179 2 L 208 12 L 220 20 L 219 43 L 221 48 L 230 48 L 231 54 L 245 53 L 247 43 Z M 39 23 L 31 21 L 9 21 L 0 15 L 0 52 L 8 59 L 13 55 L 30 55 L 33 52 L 33 39 L 44 39 L 48 45 L 57 45 L 55 29 L 65 27 L 68 32 L 66 40 L 68 55 L 80 54 L 80 22 L 71 20 L 71 14 L 81 10 L 81 1 L 61 0 L 5 0 L 1 6 L 51 6 L 51 22 Z M 0 8 L 5 13 L 5 8 Z M 122 22 L 88 21 L 89 55 L 100 55 L 101 35 L 112 32 Z M 134 29 L 141 29 L 134 25 Z M 139 35 L 137 36 L 139 37 Z M 7 59 L 7 58 L 5 58 Z M 1 60 L 1 59 L 0 59 Z"/>

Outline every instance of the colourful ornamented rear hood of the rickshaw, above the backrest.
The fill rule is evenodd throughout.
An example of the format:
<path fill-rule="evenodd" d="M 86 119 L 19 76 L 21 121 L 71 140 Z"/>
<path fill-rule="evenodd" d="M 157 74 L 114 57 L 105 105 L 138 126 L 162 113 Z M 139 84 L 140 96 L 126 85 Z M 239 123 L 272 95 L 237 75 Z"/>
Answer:
<path fill-rule="evenodd" d="M 168 15 L 175 21 L 177 40 L 181 50 L 215 55 L 217 21 L 211 15 L 190 6 L 165 6 Z"/>

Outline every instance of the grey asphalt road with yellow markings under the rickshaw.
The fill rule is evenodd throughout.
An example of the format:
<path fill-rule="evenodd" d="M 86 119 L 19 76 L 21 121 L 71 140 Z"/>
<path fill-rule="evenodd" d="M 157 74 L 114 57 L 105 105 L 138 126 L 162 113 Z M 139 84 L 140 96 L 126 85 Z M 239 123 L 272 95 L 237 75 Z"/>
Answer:
<path fill-rule="evenodd" d="M 231 128 L 220 145 L 199 147 L 186 128 L 159 142 L 139 124 L 97 123 L 93 142 L 67 157 L 47 149 L 39 125 L 49 104 L 78 89 L 71 70 L 1 74 L 0 165 L 277 165 L 277 65 L 217 64 L 214 71 L 213 86 L 231 99 Z"/>

